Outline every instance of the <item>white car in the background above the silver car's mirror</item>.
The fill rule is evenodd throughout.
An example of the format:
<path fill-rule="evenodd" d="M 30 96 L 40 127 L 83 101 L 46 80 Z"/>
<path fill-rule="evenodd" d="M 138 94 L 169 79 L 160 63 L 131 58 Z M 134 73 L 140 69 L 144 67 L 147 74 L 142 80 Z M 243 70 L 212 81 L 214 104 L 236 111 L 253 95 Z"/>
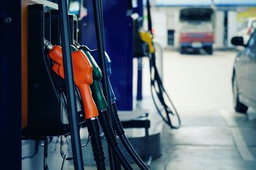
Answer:
<path fill-rule="evenodd" d="M 238 31 L 238 36 L 243 36 L 244 44 L 248 43 L 248 40 L 256 29 L 256 17 L 250 17 L 244 22 Z"/>

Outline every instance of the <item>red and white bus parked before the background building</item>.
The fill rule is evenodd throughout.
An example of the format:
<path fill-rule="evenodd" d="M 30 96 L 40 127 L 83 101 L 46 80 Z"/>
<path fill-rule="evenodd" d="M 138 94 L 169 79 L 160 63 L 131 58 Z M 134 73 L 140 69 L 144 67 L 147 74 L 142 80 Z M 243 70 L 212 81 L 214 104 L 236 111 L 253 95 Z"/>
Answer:
<path fill-rule="evenodd" d="M 212 54 L 214 30 L 211 8 L 184 8 L 180 10 L 180 53 L 204 49 Z"/>

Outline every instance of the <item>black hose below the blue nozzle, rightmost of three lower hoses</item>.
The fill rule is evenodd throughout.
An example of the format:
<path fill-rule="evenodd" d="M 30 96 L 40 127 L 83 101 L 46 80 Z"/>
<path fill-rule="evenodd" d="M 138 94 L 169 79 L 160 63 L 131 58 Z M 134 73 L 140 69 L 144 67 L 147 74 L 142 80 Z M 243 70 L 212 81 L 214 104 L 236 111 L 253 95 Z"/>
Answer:
<path fill-rule="evenodd" d="M 114 120 L 115 120 L 115 125 L 116 125 L 116 134 L 119 136 L 119 138 L 121 139 L 125 149 L 129 153 L 129 155 L 132 157 L 134 162 L 138 165 L 138 167 L 140 167 L 140 169 L 143 169 L 143 170 L 149 170 L 147 165 L 143 162 L 143 160 L 141 160 L 141 158 L 138 155 L 138 153 L 136 153 L 134 148 L 132 148 L 131 143 L 126 138 L 126 136 L 124 134 L 123 125 L 122 125 L 122 123 L 121 123 L 121 121 L 120 121 L 120 119 L 118 117 L 118 113 L 117 113 L 118 111 L 117 111 L 117 108 L 116 108 L 116 104 L 112 103 L 111 105 L 112 105 L 113 112 L 114 112 L 113 115 L 114 115 Z"/>

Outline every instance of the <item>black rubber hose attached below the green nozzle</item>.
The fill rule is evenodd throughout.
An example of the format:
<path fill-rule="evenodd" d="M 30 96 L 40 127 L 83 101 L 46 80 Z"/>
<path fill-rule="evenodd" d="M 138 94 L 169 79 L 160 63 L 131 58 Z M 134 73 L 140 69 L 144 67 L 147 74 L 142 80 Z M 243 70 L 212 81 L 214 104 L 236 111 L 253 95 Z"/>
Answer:
<path fill-rule="evenodd" d="M 108 117 L 108 111 L 107 110 L 99 111 L 98 118 L 99 118 L 99 122 L 102 127 L 102 130 L 104 132 L 104 135 L 106 137 L 106 140 L 108 142 L 108 145 L 111 147 L 116 158 L 122 164 L 124 169 L 131 170 L 132 167 L 130 166 L 127 159 L 125 159 L 124 154 L 121 152 L 120 148 L 118 147 L 115 132 L 113 130 L 113 127 L 112 127 L 109 117 Z"/>

